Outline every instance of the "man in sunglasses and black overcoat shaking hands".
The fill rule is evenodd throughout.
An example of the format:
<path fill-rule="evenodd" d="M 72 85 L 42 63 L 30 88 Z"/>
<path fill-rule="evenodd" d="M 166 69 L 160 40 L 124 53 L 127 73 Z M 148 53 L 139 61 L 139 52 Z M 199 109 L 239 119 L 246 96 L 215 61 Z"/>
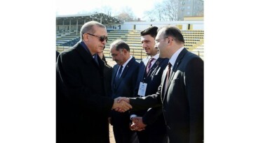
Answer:
<path fill-rule="evenodd" d="M 109 143 L 109 112 L 129 106 L 105 92 L 104 62 L 97 53 L 107 43 L 106 27 L 86 22 L 80 33 L 81 40 L 61 52 L 56 63 L 56 140 Z"/>

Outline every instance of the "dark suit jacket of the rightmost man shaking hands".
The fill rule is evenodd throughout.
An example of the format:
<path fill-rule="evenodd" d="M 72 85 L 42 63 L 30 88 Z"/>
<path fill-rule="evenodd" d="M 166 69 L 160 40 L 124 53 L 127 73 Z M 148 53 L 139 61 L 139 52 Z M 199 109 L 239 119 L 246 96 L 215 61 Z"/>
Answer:
<path fill-rule="evenodd" d="M 173 66 L 168 91 L 164 94 L 161 86 L 166 72 L 167 68 L 156 94 L 130 99 L 133 110 L 162 105 L 170 142 L 203 142 L 203 60 L 186 49 L 182 50 Z"/>

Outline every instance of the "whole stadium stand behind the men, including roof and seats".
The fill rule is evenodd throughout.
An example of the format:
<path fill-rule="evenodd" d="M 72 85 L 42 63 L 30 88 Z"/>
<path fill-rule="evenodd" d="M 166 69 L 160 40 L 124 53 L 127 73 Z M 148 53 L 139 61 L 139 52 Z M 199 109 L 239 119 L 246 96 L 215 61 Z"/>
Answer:
<path fill-rule="evenodd" d="M 189 18 L 191 19 L 191 17 Z M 147 57 L 140 42 L 140 31 L 149 27 L 149 25 L 162 27 L 169 24 L 175 25 L 181 29 L 185 40 L 184 47 L 198 54 L 203 59 L 203 20 L 199 20 L 198 17 L 196 20 L 184 20 L 179 22 L 123 22 L 116 17 L 97 12 L 77 15 L 59 15 L 56 17 L 56 50 L 62 52 L 75 45 L 80 40 L 79 31 L 82 25 L 90 20 L 105 24 L 107 27 L 109 40 L 103 52 L 106 58 L 112 58 L 109 53 L 109 44 L 120 38 L 130 45 L 130 53 L 135 59 L 140 61 L 144 57 Z"/>

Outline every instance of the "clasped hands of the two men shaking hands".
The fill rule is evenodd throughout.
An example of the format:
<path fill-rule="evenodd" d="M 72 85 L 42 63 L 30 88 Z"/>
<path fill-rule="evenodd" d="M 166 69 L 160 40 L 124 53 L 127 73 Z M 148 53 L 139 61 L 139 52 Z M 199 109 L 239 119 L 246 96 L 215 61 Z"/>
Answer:
<path fill-rule="evenodd" d="M 126 97 L 119 97 L 114 99 L 114 103 L 112 106 L 112 110 L 117 112 L 126 112 L 127 110 L 132 109 L 132 105 L 130 105 L 130 99 Z"/>

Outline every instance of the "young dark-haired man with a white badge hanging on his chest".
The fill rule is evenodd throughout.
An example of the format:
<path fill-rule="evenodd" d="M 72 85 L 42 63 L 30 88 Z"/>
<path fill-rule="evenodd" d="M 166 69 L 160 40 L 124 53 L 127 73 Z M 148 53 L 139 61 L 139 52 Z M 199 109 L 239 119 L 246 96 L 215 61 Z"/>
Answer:
<path fill-rule="evenodd" d="M 155 47 L 157 29 L 157 27 L 149 27 L 148 29 L 140 32 L 140 36 L 142 36 L 142 47 L 146 54 L 149 55 L 149 57 L 142 59 L 140 62 L 140 70 L 135 88 L 136 96 L 138 95 L 144 97 L 146 95 L 156 93 L 159 85 L 161 84 L 163 70 L 168 65 L 168 59 L 160 58 L 159 50 L 157 47 Z M 157 116 L 155 119 L 151 117 L 147 118 L 146 116 L 142 118 L 148 109 L 140 110 L 130 116 L 130 118 L 133 120 L 133 123 L 141 121 L 140 125 L 143 128 L 145 127 L 144 130 L 140 130 L 140 128 L 133 128 L 135 124 L 131 126 L 132 130 L 139 130 L 137 131 L 137 137 L 140 140 L 140 143 L 168 142 L 168 136 L 166 134 L 166 123 L 163 119 L 163 112 L 161 111 L 161 107 L 156 108 L 158 108 L 160 112 L 159 116 Z M 152 109 L 150 108 L 149 110 Z"/>

